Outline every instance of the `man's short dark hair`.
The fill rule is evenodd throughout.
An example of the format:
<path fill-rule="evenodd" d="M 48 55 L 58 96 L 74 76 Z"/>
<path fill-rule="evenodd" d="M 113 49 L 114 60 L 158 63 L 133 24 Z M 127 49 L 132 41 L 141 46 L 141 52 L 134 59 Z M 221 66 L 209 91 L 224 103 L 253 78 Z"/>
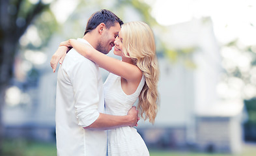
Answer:
<path fill-rule="evenodd" d="M 124 22 L 122 22 L 122 20 L 117 17 L 113 12 L 102 9 L 92 14 L 92 16 L 89 18 L 85 29 L 85 34 L 94 30 L 100 23 L 104 23 L 106 25 L 106 28 L 109 29 L 117 22 L 120 24 L 120 26 L 124 24 Z"/>

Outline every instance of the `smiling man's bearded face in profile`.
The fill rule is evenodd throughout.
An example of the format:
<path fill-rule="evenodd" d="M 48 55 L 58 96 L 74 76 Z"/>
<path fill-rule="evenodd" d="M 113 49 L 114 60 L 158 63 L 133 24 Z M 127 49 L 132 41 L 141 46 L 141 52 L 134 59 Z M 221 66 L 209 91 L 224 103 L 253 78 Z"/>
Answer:
<path fill-rule="evenodd" d="M 115 23 L 115 25 L 109 29 L 105 29 L 98 42 L 96 50 L 104 54 L 109 53 L 109 51 L 111 51 L 112 47 L 115 45 L 115 38 L 117 37 L 120 30 L 121 27 L 119 23 Z"/>

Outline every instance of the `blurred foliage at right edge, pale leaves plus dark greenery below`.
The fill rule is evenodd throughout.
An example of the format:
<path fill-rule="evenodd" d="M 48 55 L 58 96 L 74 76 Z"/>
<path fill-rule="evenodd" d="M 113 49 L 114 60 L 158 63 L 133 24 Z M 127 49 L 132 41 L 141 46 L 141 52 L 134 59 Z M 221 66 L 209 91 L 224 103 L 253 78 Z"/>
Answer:
<path fill-rule="evenodd" d="M 244 139 L 256 141 L 256 49 L 255 45 L 241 45 L 233 40 L 221 49 L 223 57 L 223 81 L 244 99 L 248 120 L 244 123 Z M 225 53 L 230 53 L 225 57 Z M 227 92 L 228 93 L 228 92 Z"/>

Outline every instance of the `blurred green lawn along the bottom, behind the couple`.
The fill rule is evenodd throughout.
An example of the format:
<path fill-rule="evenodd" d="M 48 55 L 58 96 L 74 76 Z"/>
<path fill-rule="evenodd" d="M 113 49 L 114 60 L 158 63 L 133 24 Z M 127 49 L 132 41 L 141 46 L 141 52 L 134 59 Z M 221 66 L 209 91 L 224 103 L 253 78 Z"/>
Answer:
<path fill-rule="evenodd" d="M 221 153 L 193 153 L 182 151 L 150 150 L 150 156 L 233 156 Z M 235 156 L 252 156 L 256 153 L 255 144 L 246 144 L 242 153 Z M 55 156 L 54 143 L 33 142 L 28 140 L 5 140 L 3 143 L 3 156 Z"/>

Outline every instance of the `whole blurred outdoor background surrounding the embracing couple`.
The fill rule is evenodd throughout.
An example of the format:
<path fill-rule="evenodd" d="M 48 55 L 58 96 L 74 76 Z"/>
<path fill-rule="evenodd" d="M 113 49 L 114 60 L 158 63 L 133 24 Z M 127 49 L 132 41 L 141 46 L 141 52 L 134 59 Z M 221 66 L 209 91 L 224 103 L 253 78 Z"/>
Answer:
<path fill-rule="evenodd" d="M 255 155 L 253 0 L 1 0 L 0 155 L 56 155 L 50 59 L 102 8 L 154 31 L 160 108 L 137 127 L 150 155 Z"/>

